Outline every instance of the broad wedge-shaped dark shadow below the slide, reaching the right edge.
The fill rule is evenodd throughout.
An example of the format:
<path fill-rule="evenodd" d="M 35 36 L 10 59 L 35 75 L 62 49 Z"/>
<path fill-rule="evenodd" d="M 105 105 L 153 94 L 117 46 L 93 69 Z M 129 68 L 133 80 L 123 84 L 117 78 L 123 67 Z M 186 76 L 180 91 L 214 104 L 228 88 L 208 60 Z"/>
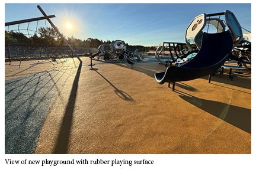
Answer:
<path fill-rule="evenodd" d="M 199 99 L 198 97 L 191 96 L 190 94 L 188 94 L 189 96 L 185 96 L 182 93 L 179 94 L 181 94 L 181 99 L 188 103 L 191 103 L 205 112 L 236 126 L 236 128 L 251 133 L 251 109 L 212 100 Z"/>

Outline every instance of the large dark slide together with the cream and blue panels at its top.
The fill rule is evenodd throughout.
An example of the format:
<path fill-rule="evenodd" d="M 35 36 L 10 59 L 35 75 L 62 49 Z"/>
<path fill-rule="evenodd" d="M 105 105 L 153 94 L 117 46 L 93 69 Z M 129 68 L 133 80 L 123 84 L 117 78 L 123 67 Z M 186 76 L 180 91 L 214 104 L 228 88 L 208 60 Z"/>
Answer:
<path fill-rule="evenodd" d="M 225 15 L 229 30 L 224 31 L 223 24 L 216 25 L 217 22 L 222 21 L 219 19 L 221 15 Z M 215 16 L 219 16 L 219 18 L 211 18 Z M 206 17 L 208 18 L 206 19 Z M 208 22 L 207 32 L 203 32 L 206 22 Z M 224 21 L 222 22 L 224 23 Z M 214 27 L 217 26 L 217 31 L 213 34 L 208 34 L 210 23 L 215 23 Z M 219 25 L 221 25 L 220 29 Z M 200 49 L 199 52 L 189 62 L 185 62 L 179 67 L 169 66 L 166 71 L 156 73 L 155 79 L 159 84 L 168 83 L 168 87 L 172 83 L 173 91 L 175 90 L 175 81 L 188 81 L 209 75 L 210 83 L 212 74 L 223 66 L 233 47 L 241 43 L 242 38 L 241 25 L 231 11 L 201 14 L 193 19 L 186 31 L 187 46 L 191 49 L 191 44 L 196 44 L 196 47 Z"/>

